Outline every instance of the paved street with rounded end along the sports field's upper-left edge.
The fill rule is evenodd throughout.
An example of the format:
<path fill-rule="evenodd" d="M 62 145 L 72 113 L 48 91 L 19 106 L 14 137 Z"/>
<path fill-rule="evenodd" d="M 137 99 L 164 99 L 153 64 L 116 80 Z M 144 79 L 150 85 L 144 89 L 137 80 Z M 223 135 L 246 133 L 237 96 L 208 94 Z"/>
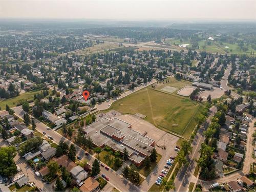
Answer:
<path fill-rule="evenodd" d="M 139 91 L 139 90 L 141 90 L 141 89 L 143 89 L 143 88 L 145 88 L 147 86 L 150 86 L 151 84 L 154 84 L 155 82 L 157 82 L 157 80 L 156 79 L 152 79 L 145 86 L 140 86 L 140 87 L 135 88 L 134 90 L 130 90 L 130 91 L 124 92 L 118 98 L 121 99 L 123 97 L 126 97 L 126 96 L 128 96 L 128 95 L 130 95 L 130 94 L 132 94 L 132 93 L 134 93 L 136 91 Z M 115 97 L 115 98 L 110 99 L 109 101 L 105 101 L 105 102 L 102 102 L 100 104 L 96 104 L 95 108 L 97 108 L 98 110 L 106 110 L 106 109 L 110 108 L 111 104 L 113 102 L 115 102 L 116 100 L 118 100 L 118 99 Z"/>

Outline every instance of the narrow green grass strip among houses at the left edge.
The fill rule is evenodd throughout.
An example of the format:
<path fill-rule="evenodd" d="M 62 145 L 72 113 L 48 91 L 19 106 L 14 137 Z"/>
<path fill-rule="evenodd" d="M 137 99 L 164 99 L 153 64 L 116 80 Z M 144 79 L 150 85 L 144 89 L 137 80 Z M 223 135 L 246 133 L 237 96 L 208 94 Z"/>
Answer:
<path fill-rule="evenodd" d="M 9 98 L 9 99 L 2 99 L 0 101 L 0 107 L 2 110 L 5 110 L 6 104 L 8 104 L 10 107 L 13 107 L 19 103 L 19 100 L 33 100 L 34 94 L 38 94 L 40 92 L 41 92 L 41 90 L 33 90 L 33 91 L 29 91 L 29 92 L 20 94 L 17 97 L 13 97 L 13 98 Z"/>

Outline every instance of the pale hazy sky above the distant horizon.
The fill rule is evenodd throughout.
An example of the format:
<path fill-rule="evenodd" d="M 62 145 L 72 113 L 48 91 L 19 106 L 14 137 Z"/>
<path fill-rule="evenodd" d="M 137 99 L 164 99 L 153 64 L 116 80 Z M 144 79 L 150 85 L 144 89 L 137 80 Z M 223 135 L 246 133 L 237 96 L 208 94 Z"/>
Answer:
<path fill-rule="evenodd" d="M 0 0 L 0 17 L 256 19 L 256 0 Z"/>

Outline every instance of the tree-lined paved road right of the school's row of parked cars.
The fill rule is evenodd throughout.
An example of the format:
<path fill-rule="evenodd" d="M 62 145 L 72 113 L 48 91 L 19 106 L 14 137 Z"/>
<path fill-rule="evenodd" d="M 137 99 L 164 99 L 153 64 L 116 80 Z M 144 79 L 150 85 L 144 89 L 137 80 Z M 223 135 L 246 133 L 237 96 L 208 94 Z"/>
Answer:
<path fill-rule="evenodd" d="M 201 144 L 203 143 L 205 137 L 203 136 L 204 130 L 207 129 L 208 125 L 210 124 L 211 117 L 217 112 L 216 106 L 212 106 L 210 108 L 210 115 L 207 118 L 204 125 L 198 130 L 197 135 L 195 136 L 194 141 L 192 142 L 193 151 L 188 156 L 189 164 L 181 168 L 174 180 L 175 187 L 177 191 L 187 191 L 188 185 L 191 179 L 194 177 L 193 174 L 195 172 L 197 162 L 196 159 L 200 157 L 200 148 Z"/>

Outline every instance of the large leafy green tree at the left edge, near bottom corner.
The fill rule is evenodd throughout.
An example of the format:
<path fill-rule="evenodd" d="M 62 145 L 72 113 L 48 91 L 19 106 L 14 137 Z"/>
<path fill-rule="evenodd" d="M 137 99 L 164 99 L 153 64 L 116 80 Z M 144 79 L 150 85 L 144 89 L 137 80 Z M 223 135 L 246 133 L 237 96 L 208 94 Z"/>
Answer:
<path fill-rule="evenodd" d="M 0 147 L 0 175 L 10 177 L 17 173 L 17 166 L 13 160 L 15 156 L 15 147 Z"/>

